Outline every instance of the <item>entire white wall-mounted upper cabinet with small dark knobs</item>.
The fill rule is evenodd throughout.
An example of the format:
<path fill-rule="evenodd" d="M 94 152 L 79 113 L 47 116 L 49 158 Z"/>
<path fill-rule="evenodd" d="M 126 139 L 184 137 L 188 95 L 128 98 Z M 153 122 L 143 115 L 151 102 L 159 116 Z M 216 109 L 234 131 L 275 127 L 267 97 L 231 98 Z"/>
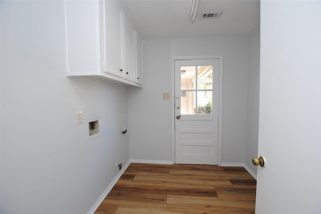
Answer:
<path fill-rule="evenodd" d="M 67 76 L 135 85 L 135 28 L 115 0 L 64 0 Z"/>

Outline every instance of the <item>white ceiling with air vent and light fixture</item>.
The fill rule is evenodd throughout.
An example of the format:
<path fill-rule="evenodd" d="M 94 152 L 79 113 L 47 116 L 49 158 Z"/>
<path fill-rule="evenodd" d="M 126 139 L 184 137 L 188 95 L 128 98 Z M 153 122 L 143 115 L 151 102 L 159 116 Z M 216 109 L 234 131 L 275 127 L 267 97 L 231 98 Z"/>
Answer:
<path fill-rule="evenodd" d="M 260 22 L 259 0 L 199 0 L 195 22 L 193 0 L 121 0 L 143 38 L 250 33 Z M 218 19 L 203 12 L 222 10 Z"/>

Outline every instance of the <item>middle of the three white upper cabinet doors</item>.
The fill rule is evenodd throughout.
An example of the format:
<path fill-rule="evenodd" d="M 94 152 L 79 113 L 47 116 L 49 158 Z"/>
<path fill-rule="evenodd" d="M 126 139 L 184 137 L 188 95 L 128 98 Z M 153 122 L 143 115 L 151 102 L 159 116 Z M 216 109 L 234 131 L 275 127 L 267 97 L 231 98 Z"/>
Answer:
<path fill-rule="evenodd" d="M 135 81 L 135 51 L 134 51 L 134 32 L 135 29 L 124 15 L 124 78 Z"/>

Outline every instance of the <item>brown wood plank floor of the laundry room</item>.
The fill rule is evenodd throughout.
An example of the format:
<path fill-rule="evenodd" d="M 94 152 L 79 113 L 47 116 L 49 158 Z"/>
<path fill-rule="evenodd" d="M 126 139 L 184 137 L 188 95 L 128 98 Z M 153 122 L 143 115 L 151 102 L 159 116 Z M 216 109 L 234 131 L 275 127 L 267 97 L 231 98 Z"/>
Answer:
<path fill-rule="evenodd" d="M 254 213 L 255 192 L 243 167 L 131 163 L 95 214 Z"/>

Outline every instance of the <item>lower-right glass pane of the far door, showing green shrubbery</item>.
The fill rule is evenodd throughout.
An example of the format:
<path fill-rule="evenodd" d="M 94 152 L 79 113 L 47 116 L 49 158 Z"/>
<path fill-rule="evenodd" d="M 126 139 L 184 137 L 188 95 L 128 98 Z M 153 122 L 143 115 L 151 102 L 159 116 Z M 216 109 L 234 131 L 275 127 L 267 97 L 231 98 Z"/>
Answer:
<path fill-rule="evenodd" d="M 197 91 L 197 113 L 212 114 L 212 91 Z"/>

